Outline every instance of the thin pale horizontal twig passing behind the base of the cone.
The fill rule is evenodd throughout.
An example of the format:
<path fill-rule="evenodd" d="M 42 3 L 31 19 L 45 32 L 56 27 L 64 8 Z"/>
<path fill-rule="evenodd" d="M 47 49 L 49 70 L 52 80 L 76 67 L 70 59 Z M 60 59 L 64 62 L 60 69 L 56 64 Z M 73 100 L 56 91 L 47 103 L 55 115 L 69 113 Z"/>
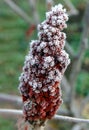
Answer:
<path fill-rule="evenodd" d="M 22 110 L 15 110 L 15 109 L 0 109 L 0 116 L 2 115 L 10 115 L 10 116 L 22 116 L 23 112 Z M 69 116 L 59 116 L 55 115 L 55 120 L 63 120 L 68 122 L 75 122 L 75 123 L 89 123 L 89 119 L 80 119 L 80 118 L 74 118 Z"/>

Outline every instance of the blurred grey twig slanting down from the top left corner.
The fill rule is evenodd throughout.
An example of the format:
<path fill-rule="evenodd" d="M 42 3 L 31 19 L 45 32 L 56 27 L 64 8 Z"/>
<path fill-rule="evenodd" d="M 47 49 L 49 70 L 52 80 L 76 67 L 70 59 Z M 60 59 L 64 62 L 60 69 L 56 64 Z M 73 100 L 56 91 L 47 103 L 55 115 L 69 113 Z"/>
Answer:
<path fill-rule="evenodd" d="M 18 15 L 20 15 L 27 23 L 31 24 L 33 21 L 30 19 L 30 17 L 18 6 L 16 5 L 12 0 L 4 0 L 4 2 L 9 5 L 9 7 L 16 12 Z"/>

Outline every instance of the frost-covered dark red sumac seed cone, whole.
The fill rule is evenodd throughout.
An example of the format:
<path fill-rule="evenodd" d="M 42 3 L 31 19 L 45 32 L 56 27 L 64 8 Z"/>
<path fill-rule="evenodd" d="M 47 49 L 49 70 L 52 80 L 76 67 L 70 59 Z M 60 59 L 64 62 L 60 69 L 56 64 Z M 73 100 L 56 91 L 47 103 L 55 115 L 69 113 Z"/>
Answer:
<path fill-rule="evenodd" d="M 64 50 L 68 15 L 61 4 L 46 13 L 38 25 L 38 40 L 31 41 L 19 78 L 25 120 L 42 125 L 51 119 L 62 103 L 60 83 L 70 63 Z"/>

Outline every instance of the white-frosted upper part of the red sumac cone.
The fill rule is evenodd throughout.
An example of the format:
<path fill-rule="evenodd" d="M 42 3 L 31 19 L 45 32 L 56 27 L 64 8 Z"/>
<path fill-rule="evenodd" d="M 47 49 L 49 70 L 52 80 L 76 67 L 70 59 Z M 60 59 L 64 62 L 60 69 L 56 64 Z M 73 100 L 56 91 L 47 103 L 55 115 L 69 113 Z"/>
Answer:
<path fill-rule="evenodd" d="M 23 72 L 19 77 L 20 87 L 28 83 L 36 93 L 41 90 L 47 92 L 48 89 L 55 91 L 52 85 L 61 81 L 70 63 L 69 55 L 64 50 L 66 34 L 61 32 L 67 27 L 67 20 L 68 15 L 61 4 L 46 13 L 46 20 L 38 25 L 39 40 L 31 41 L 30 52 L 25 57 Z M 43 83 L 48 86 L 44 87 Z"/>

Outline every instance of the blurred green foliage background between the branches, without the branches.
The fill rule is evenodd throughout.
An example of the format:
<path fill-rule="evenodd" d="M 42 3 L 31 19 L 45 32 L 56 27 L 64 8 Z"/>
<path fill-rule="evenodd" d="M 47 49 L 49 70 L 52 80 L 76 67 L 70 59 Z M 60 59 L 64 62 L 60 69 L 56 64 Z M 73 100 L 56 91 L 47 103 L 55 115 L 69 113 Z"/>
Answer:
<path fill-rule="evenodd" d="M 8 1 L 8 0 L 7 0 Z M 28 0 L 13 0 L 15 4 L 17 4 L 23 11 L 28 14 L 30 21 L 24 20 L 21 16 L 19 16 L 16 12 L 14 12 L 8 4 L 4 0 L 0 0 L 0 93 L 10 94 L 10 95 L 18 95 L 18 77 L 22 71 L 22 66 L 24 64 L 25 55 L 29 50 L 29 42 L 32 39 L 37 39 L 37 31 L 34 25 L 34 17 L 33 11 Z M 67 0 L 66 0 L 67 2 Z M 68 11 L 70 10 L 68 4 L 66 4 L 63 0 L 54 0 L 54 5 L 58 3 L 62 3 Z M 65 76 L 69 81 L 69 76 L 73 73 L 73 70 L 76 70 L 76 59 L 81 58 L 80 61 L 81 67 L 78 72 L 76 72 L 74 77 L 74 91 L 75 91 L 75 99 L 76 107 L 82 107 L 80 117 L 89 118 L 89 42 L 86 49 L 84 49 L 83 56 L 77 57 L 76 54 L 80 47 L 84 26 L 86 24 L 89 25 L 89 15 L 87 14 L 87 18 L 84 17 L 84 12 L 86 6 L 88 5 L 88 0 L 70 0 L 73 6 L 78 11 L 78 14 L 71 14 L 68 21 L 68 28 L 65 30 L 67 33 L 67 41 L 68 45 L 73 51 L 75 57 L 71 58 L 71 64 L 68 67 Z M 39 22 L 45 19 L 45 12 L 47 11 L 47 4 L 45 0 L 36 0 L 36 10 L 39 15 Z M 73 11 L 73 10 L 71 10 Z M 70 11 L 70 12 L 71 12 Z M 89 12 L 89 11 L 88 11 Z M 86 20 L 86 21 L 84 21 Z M 85 23 L 84 23 L 85 22 Z M 88 27 L 88 26 L 87 26 Z M 89 36 L 85 37 L 87 40 Z M 83 50 L 82 49 L 82 50 Z M 66 49 L 68 50 L 68 48 Z M 70 52 L 70 51 L 69 51 Z M 81 53 L 80 53 L 81 54 Z M 75 61 L 75 67 L 73 67 Z M 72 70 L 73 69 L 73 70 Z M 70 86 L 73 83 L 73 79 L 70 82 Z M 63 83 L 62 83 L 63 84 Z M 66 84 L 66 88 L 67 88 Z M 64 85 L 65 86 L 65 85 Z M 63 89 L 63 98 L 65 99 L 66 94 L 64 87 Z M 71 98 L 71 97 L 70 97 Z M 82 103 L 82 104 L 80 104 Z M 66 102 L 61 110 L 67 109 L 70 111 L 68 106 L 69 102 Z M 11 103 L 6 103 L 0 101 L 0 108 L 22 108 Z M 61 114 L 62 112 L 59 112 Z M 62 115 L 75 116 L 77 114 L 74 113 L 62 113 Z M 76 116 L 77 117 L 77 116 Z M 9 117 L 0 117 L 0 130 L 17 130 L 17 119 L 9 118 Z M 75 130 L 76 124 L 68 123 L 64 121 L 52 121 L 48 124 L 48 130 Z M 76 130 L 88 130 L 89 126 L 84 126 L 82 129 Z"/>

